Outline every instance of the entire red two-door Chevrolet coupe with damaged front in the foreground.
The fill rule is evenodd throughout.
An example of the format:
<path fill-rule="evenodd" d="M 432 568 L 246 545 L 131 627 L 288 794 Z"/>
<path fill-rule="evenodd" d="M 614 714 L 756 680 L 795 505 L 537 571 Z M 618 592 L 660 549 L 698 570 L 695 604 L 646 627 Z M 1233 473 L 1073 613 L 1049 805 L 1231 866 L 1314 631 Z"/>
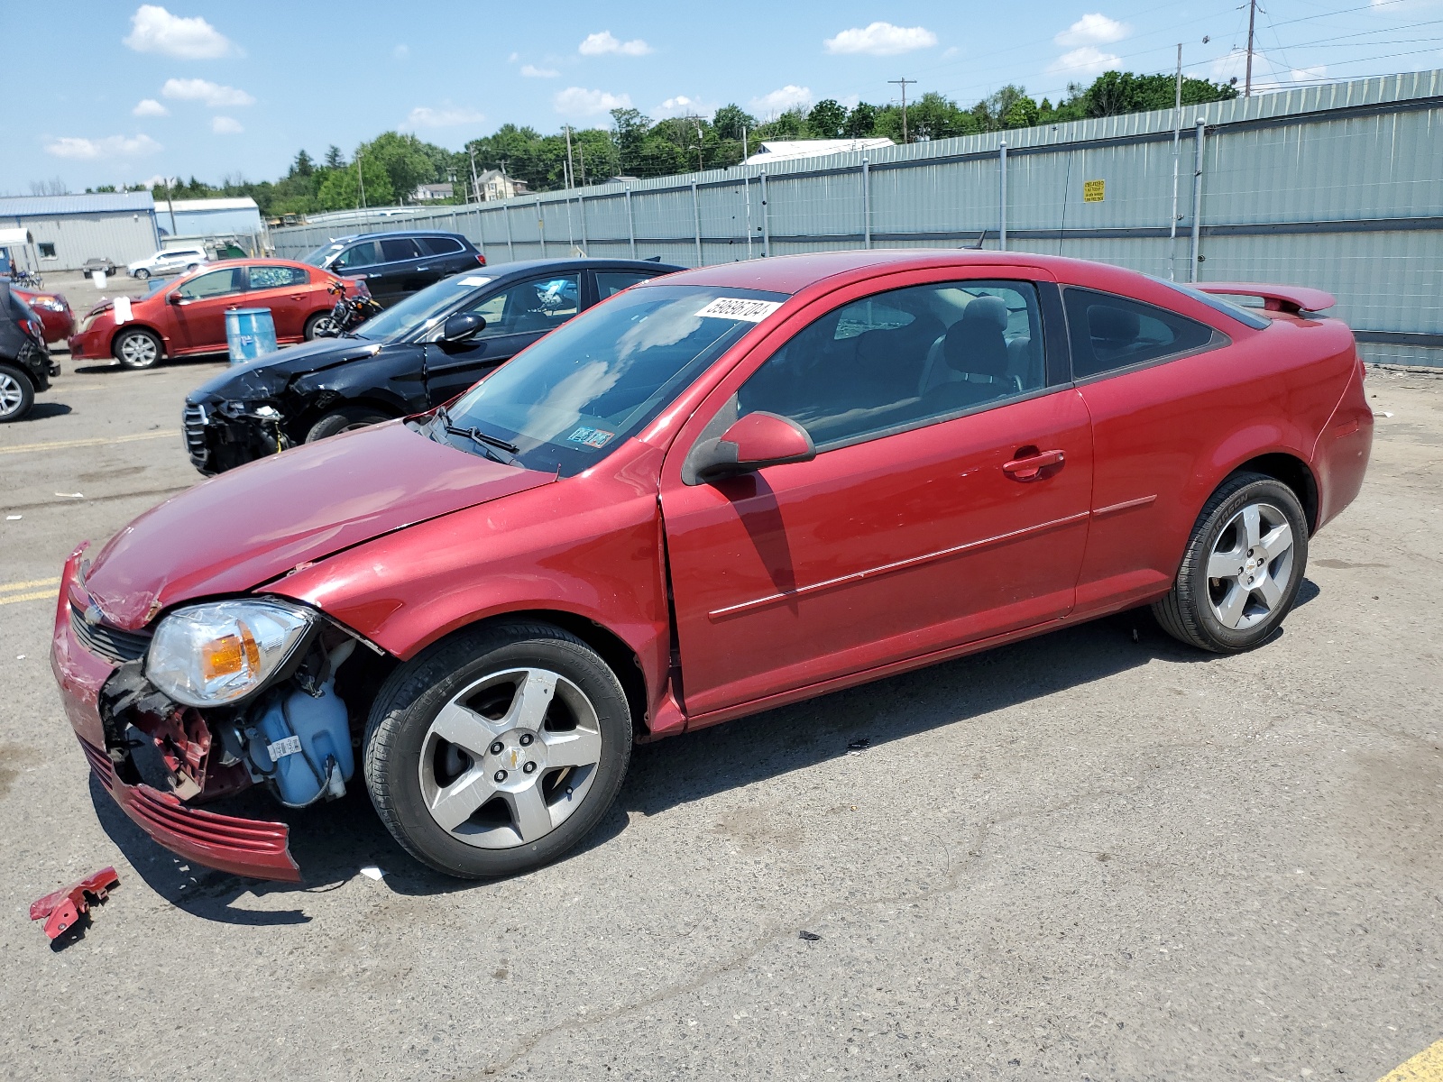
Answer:
<path fill-rule="evenodd" d="M 202 805 L 364 779 L 417 860 L 483 877 L 583 838 L 638 740 L 1140 604 L 1251 649 L 1372 415 L 1332 297 L 1209 289 L 1264 306 L 981 251 L 641 283 L 449 407 L 81 545 L 65 708 L 189 860 L 297 879 L 284 824 Z"/>

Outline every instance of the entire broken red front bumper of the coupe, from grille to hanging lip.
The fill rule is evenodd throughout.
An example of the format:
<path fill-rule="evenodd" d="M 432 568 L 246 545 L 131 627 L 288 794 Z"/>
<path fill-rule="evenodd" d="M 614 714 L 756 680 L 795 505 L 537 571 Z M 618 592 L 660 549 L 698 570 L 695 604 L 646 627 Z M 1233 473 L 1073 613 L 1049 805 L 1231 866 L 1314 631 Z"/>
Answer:
<path fill-rule="evenodd" d="M 290 828 L 284 822 L 263 822 L 190 808 L 173 793 L 144 783 L 127 783 L 117 773 L 105 747 L 100 716 L 100 691 L 115 665 L 87 651 L 71 628 L 72 604 L 84 612 L 89 604 L 75 581 L 81 545 L 65 563 L 61 597 L 55 609 L 51 668 L 61 688 L 65 714 L 81 740 L 91 770 L 136 825 L 172 853 L 205 867 L 255 879 L 300 880 L 300 868 L 289 848 Z"/>

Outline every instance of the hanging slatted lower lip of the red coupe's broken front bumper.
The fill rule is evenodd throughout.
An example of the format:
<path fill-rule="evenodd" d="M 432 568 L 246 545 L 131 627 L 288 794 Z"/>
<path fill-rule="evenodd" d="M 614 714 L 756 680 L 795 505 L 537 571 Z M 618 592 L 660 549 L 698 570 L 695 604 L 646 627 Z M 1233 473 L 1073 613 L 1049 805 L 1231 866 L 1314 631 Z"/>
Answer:
<path fill-rule="evenodd" d="M 237 876 L 300 881 L 300 867 L 289 848 L 290 828 L 284 822 L 216 815 L 186 806 L 172 793 L 149 785 L 126 785 L 115 776 L 105 752 L 87 740 L 81 740 L 81 747 L 121 811 L 172 853 Z"/>

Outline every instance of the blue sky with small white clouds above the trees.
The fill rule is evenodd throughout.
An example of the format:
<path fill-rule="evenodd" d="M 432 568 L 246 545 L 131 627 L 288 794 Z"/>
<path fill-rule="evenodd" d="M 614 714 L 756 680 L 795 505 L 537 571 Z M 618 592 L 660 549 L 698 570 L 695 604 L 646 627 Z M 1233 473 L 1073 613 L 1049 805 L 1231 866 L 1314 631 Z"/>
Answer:
<path fill-rule="evenodd" d="M 349 153 L 394 127 L 459 147 L 506 121 L 605 124 L 613 105 L 662 117 L 883 102 L 903 76 L 909 97 L 971 104 L 1017 82 L 1055 100 L 1107 68 L 1172 71 L 1179 40 L 1189 74 L 1241 79 L 1247 6 L 6 0 L 0 40 L 0 193 L 27 195 L 52 177 L 71 190 L 261 180 L 302 147 Z M 1258 46 L 1263 88 L 1443 68 L 1443 0 L 1268 0 Z"/>

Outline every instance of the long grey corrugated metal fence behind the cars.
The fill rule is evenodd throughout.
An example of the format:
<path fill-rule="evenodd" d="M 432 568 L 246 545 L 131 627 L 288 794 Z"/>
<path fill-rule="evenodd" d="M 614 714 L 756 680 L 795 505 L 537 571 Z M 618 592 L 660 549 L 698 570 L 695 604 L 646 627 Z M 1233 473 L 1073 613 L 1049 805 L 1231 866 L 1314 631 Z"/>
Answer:
<path fill-rule="evenodd" d="M 1443 71 L 468 206 L 322 215 L 296 257 L 372 229 L 488 261 L 700 265 L 859 247 L 1006 247 L 1179 281 L 1329 290 L 1375 362 L 1443 366 Z M 1201 150 L 1201 153 L 1199 153 Z M 1176 169 L 1176 238 L 1170 237 Z M 1196 232 L 1196 239 L 1195 239 Z"/>

